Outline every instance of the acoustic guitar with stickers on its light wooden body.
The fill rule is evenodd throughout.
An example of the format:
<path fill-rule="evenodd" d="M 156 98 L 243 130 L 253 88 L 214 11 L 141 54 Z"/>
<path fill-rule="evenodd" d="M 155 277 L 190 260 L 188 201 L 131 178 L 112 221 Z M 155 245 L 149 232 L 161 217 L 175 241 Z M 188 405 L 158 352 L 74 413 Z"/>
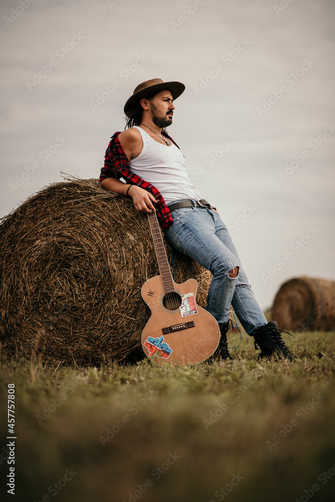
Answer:
<path fill-rule="evenodd" d="M 146 356 L 158 365 L 184 366 L 208 359 L 220 340 L 216 319 L 196 303 L 198 283 L 173 280 L 156 213 L 149 213 L 149 224 L 160 275 L 141 288 L 151 317 L 142 332 Z"/>

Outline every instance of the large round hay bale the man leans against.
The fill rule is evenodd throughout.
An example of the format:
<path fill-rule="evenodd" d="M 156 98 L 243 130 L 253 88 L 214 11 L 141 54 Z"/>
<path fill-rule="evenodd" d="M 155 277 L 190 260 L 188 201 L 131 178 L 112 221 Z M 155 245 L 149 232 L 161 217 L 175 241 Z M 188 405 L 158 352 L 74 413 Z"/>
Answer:
<path fill-rule="evenodd" d="M 0 225 L 3 349 L 67 364 L 142 354 L 149 311 L 140 289 L 159 274 L 147 216 L 97 180 L 65 180 Z M 211 274 L 177 252 L 174 262 L 175 281 L 197 279 L 205 307 Z"/>

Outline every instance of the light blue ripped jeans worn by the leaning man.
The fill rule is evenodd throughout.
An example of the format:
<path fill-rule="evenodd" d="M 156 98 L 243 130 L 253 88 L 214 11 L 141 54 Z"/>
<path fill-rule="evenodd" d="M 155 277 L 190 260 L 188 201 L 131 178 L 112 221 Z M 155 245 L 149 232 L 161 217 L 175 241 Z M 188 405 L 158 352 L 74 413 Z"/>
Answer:
<path fill-rule="evenodd" d="M 207 207 L 183 207 L 172 211 L 172 217 L 174 223 L 164 228 L 166 240 L 213 274 L 206 310 L 222 324 L 228 321 L 232 304 L 243 328 L 252 336 L 267 320 L 218 213 Z M 237 277 L 230 278 L 235 267 L 239 267 Z"/>

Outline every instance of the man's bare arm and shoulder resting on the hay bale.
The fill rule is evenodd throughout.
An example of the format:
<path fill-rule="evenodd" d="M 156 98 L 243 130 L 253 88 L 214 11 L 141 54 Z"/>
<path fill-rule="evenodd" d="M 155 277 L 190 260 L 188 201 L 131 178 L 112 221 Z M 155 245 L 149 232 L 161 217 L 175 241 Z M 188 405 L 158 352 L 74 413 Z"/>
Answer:
<path fill-rule="evenodd" d="M 136 129 L 122 131 L 118 138 L 129 162 L 141 153 L 143 148 L 142 138 Z M 136 211 L 143 213 L 155 211 L 154 204 L 157 202 L 156 199 L 149 192 L 137 185 L 125 184 L 116 178 L 105 178 L 101 181 L 100 186 L 104 190 L 120 195 L 127 195 L 127 190 L 130 187 L 128 195 L 132 198 Z"/>

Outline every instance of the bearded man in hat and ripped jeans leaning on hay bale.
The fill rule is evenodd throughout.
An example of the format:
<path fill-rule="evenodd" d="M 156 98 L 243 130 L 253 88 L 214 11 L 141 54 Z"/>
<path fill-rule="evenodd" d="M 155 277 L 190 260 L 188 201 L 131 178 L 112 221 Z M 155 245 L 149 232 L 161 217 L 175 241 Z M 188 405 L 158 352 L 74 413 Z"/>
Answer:
<path fill-rule="evenodd" d="M 157 211 L 169 244 L 211 271 L 206 309 L 220 327 L 222 358 L 232 359 L 227 346 L 232 304 L 255 347 L 261 349 L 260 357 L 276 354 L 293 360 L 277 323 L 267 322 L 256 302 L 227 227 L 201 198 L 188 177 L 183 154 L 165 132 L 173 120 L 174 100 L 184 89 L 180 82 L 164 83 L 159 78 L 135 88 L 124 106 L 128 129 L 115 133 L 108 145 L 101 187 L 130 196 L 137 211 Z"/>

